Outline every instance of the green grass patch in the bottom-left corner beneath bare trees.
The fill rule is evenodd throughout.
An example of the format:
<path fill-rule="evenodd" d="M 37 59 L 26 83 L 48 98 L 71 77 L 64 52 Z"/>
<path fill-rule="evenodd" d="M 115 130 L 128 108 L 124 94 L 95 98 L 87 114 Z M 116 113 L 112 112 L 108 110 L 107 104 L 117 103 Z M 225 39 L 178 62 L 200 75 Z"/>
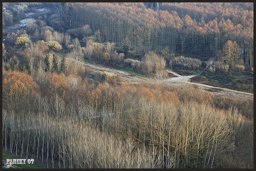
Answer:
<path fill-rule="evenodd" d="M 24 156 L 22 157 L 22 159 L 26 158 L 26 156 L 25 157 Z M 18 156 L 18 155 L 15 155 L 13 153 L 8 153 L 8 152 L 3 150 L 3 160 L 6 160 L 6 159 L 21 159 L 21 157 Z M 18 167 L 21 167 L 21 168 L 44 168 L 44 167 L 36 164 L 36 160 L 34 160 L 33 164 L 31 164 L 31 163 L 28 164 L 27 160 L 25 161 L 25 163 L 26 164 L 14 164 L 14 165 L 18 166 Z"/>

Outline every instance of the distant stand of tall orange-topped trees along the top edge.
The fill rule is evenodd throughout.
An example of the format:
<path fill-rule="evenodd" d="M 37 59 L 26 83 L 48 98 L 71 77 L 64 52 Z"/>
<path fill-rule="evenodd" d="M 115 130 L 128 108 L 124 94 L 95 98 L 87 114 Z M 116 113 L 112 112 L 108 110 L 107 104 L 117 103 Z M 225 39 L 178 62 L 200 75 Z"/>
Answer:
<path fill-rule="evenodd" d="M 252 4 L 245 3 L 241 9 L 236 5 L 165 3 L 159 11 L 153 11 L 143 8 L 141 3 L 71 3 L 61 4 L 59 11 L 72 6 L 71 28 L 89 24 L 92 32 L 100 30 L 102 40 L 116 42 L 118 46 L 128 41 L 137 51 L 161 52 L 168 46 L 179 53 L 217 56 L 228 40 L 236 41 L 244 52 L 240 57 L 251 67 Z M 233 13 L 226 14 L 227 10 Z M 68 16 L 68 10 L 62 11 L 62 18 Z M 207 11 L 207 16 L 202 11 Z"/>

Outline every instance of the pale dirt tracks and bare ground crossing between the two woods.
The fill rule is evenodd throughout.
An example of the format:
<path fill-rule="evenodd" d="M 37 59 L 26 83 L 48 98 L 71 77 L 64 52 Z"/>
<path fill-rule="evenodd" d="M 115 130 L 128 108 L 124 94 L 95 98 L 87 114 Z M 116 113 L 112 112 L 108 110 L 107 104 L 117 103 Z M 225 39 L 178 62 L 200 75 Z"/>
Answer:
<path fill-rule="evenodd" d="M 169 73 L 172 73 L 173 75 L 175 75 L 177 77 L 168 78 L 168 79 L 164 79 L 164 80 L 156 80 L 155 78 L 152 78 L 152 77 L 132 75 L 129 72 L 121 71 L 121 70 L 114 69 L 114 68 L 108 68 L 108 67 L 105 67 L 105 66 L 100 65 L 100 64 L 91 64 L 91 63 L 88 63 L 88 62 L 82 62 L 82 63 L 85 65 L 85 67 L 90 68 L 92 70 L 92 72 L 99 73 L 99 72 L 103 72 L 103 71 L 108 71 L 108 72 L 113 72 L 115 74 L 120 74 L 124 83 L 139 83 L 139 82 L 142 82 L 142 81 L 156 82 L 156 83 L 166 82 L 167 85 L 175 86 L 175 87 L 178 87 L 182 84 L 192 84 L 192 85 L 195 85 L 197 87 L 199 86 L 202 90 L 208 91 L 208 92 L 210 92 L 214 95 L 220 95 L 220 96 L 225 96 L 225 97 L 229 97 L 229 98 L 236 98 L 236 97 L 241 97 L 241 98 L 243 98 L 243 97 L 252 97 L 253 98 L 252 93 L 241 92 L 241 91 L 236 91 L 236 90 L 226 89 L 226 88 L 220 88 L 220 87 L 214 87 L 214 86 L 209 86 L 209 85 L 195 83 L 195 82 L 189 82 L 190 78 L 201 75 L 209 66 L 212 65 L 214 60 L 215 60 L 215 58 L 210 58 L 207 61 L 208 66 L 196 75 L 181 76 L 181 75 L 179 75 L 179 74 L 177 74 L 173 71 L 167 70 Z"/>

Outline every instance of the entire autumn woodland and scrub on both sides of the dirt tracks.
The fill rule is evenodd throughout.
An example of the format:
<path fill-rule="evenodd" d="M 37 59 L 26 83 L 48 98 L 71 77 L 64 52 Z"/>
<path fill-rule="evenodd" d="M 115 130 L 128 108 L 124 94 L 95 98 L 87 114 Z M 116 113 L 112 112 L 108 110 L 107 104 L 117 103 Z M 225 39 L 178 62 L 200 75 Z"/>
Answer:
<path fill-rule="evenodd" d="M 214 57 L 208 74 L 253 77 L 253 3 L 3 5 L 3 150 L 47 168 L 253 168 L 253 98 L 84 65 L 157 79 Z"/>

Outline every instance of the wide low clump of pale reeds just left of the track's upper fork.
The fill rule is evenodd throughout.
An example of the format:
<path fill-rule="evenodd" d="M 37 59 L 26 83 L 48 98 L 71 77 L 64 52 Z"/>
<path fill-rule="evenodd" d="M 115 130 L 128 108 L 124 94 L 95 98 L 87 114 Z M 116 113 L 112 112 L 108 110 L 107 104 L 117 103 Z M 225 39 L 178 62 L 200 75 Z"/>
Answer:
<path fill-rule="evenodd" d="M 184 56 L 173 57 L 169 62 L 170 67 L 182 67 L 196 70 L 201 67 L 202 61 L 195 58 L 188 58 Z"/>

